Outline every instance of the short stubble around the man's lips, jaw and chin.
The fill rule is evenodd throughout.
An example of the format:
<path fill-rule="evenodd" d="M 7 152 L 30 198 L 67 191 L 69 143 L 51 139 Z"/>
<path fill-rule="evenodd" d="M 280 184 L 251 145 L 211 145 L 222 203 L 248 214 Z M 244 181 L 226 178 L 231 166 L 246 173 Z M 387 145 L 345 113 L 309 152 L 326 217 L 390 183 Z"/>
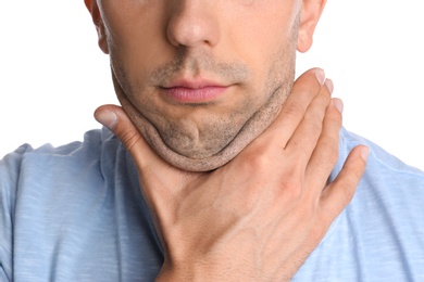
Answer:
<path fill-rule="evenodd" d="M 297 41 L 296 35 L 297 27 L 291 38 L 294 42 Z M 154 91 L 149 89 L 149 86 L 161 85 L 182 69 L 189 69 L 191 74 L 207 69 L 208 73 L 220 74 L 221 77 L 229 80 L 244 81 L 251 76 L 248 67 L 238 63 L 216 63 L 207 54 L 188 53 L 180 49 L 173 62 L 151 72 L 146 87 L 136 88 L 128 78 L 125 67 L 120 63 L 120 59 L 115 56 L 117 52 L 110 47 L 112 78 L 124 111 L 158 155 L 169 164 L 184 170 L 209 171 L 233 159 L 278 115 L 291 90 L 295 77 L 296 49 L 292 47 L 294 42 L 287 42 L 288 47 L 280 47 L 269 59 L 272 63 L 267 70 L 267 79 L 260 89 L 266 93 L 267 101 L 257 108 L 246 102 L 236 110 L 233 108 L 227 118 L 210 116 L 204 127 L 200 129 L 189 121 L 161 118 L 160 110 L 151 100 L 146 99 L 154 95 Z M 258 95 L 264 95 L 263 92 Z M 144 106 L 140 108 L 137 105 Z M 192 111 L 196 111 L 196 107 L 204 110 L 214 105 L 211 102 L 186 106 L 191 106 Z M 241 115 L 240 112 L 251 108 L 253 112 L 248 118 Z"/>

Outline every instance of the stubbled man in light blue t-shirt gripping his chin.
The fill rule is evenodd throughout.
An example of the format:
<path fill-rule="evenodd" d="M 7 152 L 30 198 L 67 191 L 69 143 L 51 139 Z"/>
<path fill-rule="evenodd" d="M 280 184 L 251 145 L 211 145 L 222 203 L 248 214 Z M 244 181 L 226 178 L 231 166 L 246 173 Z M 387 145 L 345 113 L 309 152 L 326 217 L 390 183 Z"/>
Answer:
<path fill-rule="evenodd" d="M 325 1 L 85 2 L 125 111 L 96 118 L 119 139 L 2 161 L 2 279 L 423 277 L 423 174 L 339 139 L 321 69 L 292 86 Z"/>

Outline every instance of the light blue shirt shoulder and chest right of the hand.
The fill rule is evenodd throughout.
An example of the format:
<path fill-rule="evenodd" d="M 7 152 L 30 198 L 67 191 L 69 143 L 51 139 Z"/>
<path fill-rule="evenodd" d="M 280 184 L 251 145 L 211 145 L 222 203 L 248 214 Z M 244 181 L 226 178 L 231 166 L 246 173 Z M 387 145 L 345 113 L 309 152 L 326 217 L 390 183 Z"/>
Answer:
<path fill-rule="evenodd" d="M 332 179 L 360 144 L 370 148 L 365 174 L 350 204 L 299 271 L 298 281 L 415 281 L 424 277 L 424 174 L 342 129 Z"/>

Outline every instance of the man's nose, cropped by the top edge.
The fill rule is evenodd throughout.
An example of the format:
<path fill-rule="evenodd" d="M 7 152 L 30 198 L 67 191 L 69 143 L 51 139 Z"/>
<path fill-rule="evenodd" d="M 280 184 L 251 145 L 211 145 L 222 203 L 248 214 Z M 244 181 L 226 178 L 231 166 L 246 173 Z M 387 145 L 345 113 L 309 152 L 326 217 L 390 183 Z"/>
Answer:
<path fill-rule="evenodd" d="M 215 0 L 174 0 L 166 36 L 175 47 L 213 47 L 220 38 Z"/>

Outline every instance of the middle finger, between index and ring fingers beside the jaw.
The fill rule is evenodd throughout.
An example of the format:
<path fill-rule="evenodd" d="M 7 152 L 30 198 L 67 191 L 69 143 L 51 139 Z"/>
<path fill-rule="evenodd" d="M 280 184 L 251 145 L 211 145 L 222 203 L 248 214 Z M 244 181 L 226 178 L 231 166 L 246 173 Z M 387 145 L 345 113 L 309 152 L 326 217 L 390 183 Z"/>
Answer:
<path fill-rule="evenodd" d="M 322 134 L 323 120 L 331 101 L 333 84 L 329 79 L 321 88 L 309 105 L 303 119 L 294 132 L 285 148 L 285 154 L 297 159 L 299 167 L 304 169 L 310 162 L 311 155 L 316 148 Z"/>

